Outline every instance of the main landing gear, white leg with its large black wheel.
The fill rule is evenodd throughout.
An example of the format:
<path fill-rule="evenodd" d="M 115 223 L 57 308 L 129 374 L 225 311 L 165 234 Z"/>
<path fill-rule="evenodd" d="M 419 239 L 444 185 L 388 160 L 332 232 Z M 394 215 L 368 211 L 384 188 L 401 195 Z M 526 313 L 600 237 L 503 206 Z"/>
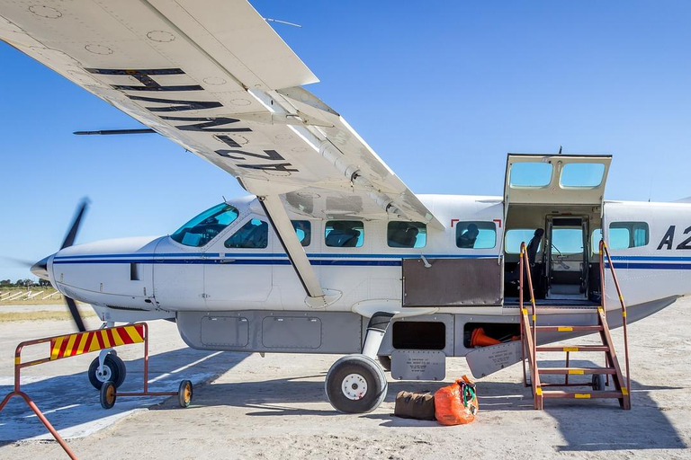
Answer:
<path fill-rule="evenodd" d="M 371 412 L 384 401 L 388 384 L 377 362 L 377 351 L 393 314 L 378 312 L 367 325 L 363 352 L 338 359 L 328 369 L 325 389 L 328 402 L 345 413 Z"/>

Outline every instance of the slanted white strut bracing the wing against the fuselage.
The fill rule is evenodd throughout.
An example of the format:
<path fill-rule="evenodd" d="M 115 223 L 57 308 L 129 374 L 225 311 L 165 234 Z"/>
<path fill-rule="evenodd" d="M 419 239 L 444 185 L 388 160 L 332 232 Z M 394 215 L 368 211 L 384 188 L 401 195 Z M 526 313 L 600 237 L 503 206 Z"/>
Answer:
<path fill-rule="evenodd" d="M 329 297 L 331 296 L 327 296 L 321 288 L 317 274 L 312 269 L 310 260 L 307 258 L 305 250 L 302 249 L 298 235 L 292 227 L 291 218 L 288 217 L 285 208 L 283 208 L 281 198 L 278 195 L 257 198 L 262 208 L 264 208 L 271 226 L 274 227 L 278 240 L 283 245 L 283 249 L 288 255 L 288 259 L 290 259 L 292 268 L 295 269 L 302 287 L 305 288 L 308 296 L 306 299 L 308 305 L 312 307 L 327 306 L 330 303 Z"/>

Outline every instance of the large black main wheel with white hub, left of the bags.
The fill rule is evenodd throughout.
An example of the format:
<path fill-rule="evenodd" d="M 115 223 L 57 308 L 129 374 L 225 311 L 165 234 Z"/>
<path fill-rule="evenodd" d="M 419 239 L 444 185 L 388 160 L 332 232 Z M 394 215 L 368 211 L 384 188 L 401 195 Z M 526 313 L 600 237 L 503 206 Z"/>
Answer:
<path fill-rule="evenodd" d="M 365 413 L 379 407 L 388 385 L 384 370 L 372 358 L 348 355 L 328 369 L 328 402 L 345 413 Z"/>

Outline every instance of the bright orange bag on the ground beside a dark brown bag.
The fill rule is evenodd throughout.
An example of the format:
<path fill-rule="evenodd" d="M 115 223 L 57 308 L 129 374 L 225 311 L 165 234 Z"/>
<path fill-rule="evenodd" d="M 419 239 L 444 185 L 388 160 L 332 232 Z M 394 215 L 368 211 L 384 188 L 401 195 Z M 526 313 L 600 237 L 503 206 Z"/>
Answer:
<path fill-rule="evenodd" d="M 435 393 L 435 417 L 442 425 L 465 425 L 475 420 L 478 413 L 475 384 L 467 376 Z"/>

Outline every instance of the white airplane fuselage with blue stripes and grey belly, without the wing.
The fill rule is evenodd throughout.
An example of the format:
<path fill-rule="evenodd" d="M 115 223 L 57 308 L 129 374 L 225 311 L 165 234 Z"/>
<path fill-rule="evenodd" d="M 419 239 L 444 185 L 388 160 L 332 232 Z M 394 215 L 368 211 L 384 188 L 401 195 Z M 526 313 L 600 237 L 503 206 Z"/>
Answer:
<path fill-rule="evenodd" d="M 353 219 L 362 224 L 358 246 L 334 247 L 327 245 L 325 237 L 325 228 L 331 225 L 329 221 L 291 216 L 295 221 L 309 221 L 310 241 L 304 247 L 305 252 L 322 287 L 337 294 L 337 299 L 323 308 L 313 308 L 306 303 L 305 292 L 291 262 L 270 226 L 266 228 L 265 247 L 227 247 L 229 239 L 247 223 L 266 220 L 257 200 L 252 198 L 230 201 L 229 205 L 237 209 L 238 216 L 202 247 L 178 243 L 171 236 L 80 244 L 57 252 L 49 259 L 49 276 L 56 288 L 67 296 L 93 305 L 103 321 L 176 319 L 185 340 L 196 348 L 352 352 L 362 340 L 362 317 L 377 311 L 390 311 L 397 314 L 397 318 L 408 321 L 413 317 L 419 321 L 436 318 L 448 330 L 448 346 L 444 347 L 447 356 L 463 356 L 471 349 L 464 344 L 463 336 L 467 332 L 464 323 L 516 324 L 518 321 L 517 294 L 511 291 L 509 280 L 518 257 L 514 232 L 518 233 L 519 240 L 525 241 L 527 238 L 522 237 L 521 232 L 532 234 L 535 228 L 544 226 L 545 219 L 551 224 L 555 219 L 573 220 L 578 216 L 579 224 L 566 222 L 571 225 L 564 231 L 579 233 L 578 227 L 581 227 L 579 234 L 586 235 L 582 239 L 586 243 L 581 253 L 574 256 L 552 252 L 549 255 L 552 260 L 549 260 L 545 249 L 540 248 L 543 271 L 548 264 L 554 270 L 552 281 L 559 278 L 558 274 L 566 275 L 562 278 L 567 280 L 579 279 L 570 282 L 570 286 L 568 282 L 560 285 L 562 291 L 572 294 L 553 293 L 557 286 L 553 283 L 544 288 L 545 305 L 573 309 L 574 314 L 578 314 L 583 305 L 600 303 L 598 283 L 593 279 L 588 290 L 582 292 L 583 279 L 595 278 L 599 272 L 599 236 L 593 233 L 605 228 L 605 240 L 613 240 L 615 234 L 610 233 L 621 233 L 621 223 L 624 228 L 635 228 L 633 232 L 642 232 L 636 235 L 640 241 L 634 241 L 634 247 L 620 248 L 615 241 L 610 242 L 618 279 L 630 308 L 630 321 L 651 314 L 691 291 L 691 255 L 687 254 L 687 249 L 691 249 L 688 244 L 689 204 L 606 201 L 602 209 L 566 207 L 568 210 L 550 209 L 546 213 L 543 207 L 536 207 L 534 217 L 526 220 L 530 212 L 520 210 L 520 216 L 512 216 L 500 197 L 423 195 L 421 199 L 445 226 L 444 230 L 427 227 L 421 247 L 391 247 L 394 219 Z M 494 232 L 485 232 L 482 243 L 475 244 L 480 248 L 458 247 L 457 227 L 467 227 L 471 222 L 493 226 Z M 558 234 L 552 234 L 551 239 L 544 242 L 551 241 L 558 246 L 557 237 Z M 547 246 L 544 242 L 542 245 Z M 562 250 L 566 252 L 566 248 Z M 432 266 L 438 261 L 467 264 L 494 261 L 497 270 L 486 275 L 494 277 L 489 279 L 487 298 L 451 301 L 444 305 L 420 305 L 414 301 L 407 305 L 406 296 L 412 298 L 418 293 L 408 292 L 411 281 L 407 283 L 404 279 L 404 265 L 423 263 L 423 257 Z M 553 261 L 555 258 L 561 259 Z M 585 269 L 579 258 L 585 258 Z M 538 253 L 537 265 L 541 264 L 540 259 Z M 564 267 L 573 270 L 564 270 Z M 462 286 L 463 279 L 457 282 Z M 458 293 L 463 289 L 459 291 L 452 285 L 453 282 L 448 285 L 449 296 L 458 300 Z M 498 296 L 493 298 L 496 293 Z M 618 298 L 609 277 L 606 277 L 606 307 L 618 308 Z M 325 318 L 332 317 L 331 314 L 340 318 L 340 323 L 336 322 L 332 328 L 349 329 L 354 332 L 352 340 L 339 339 L 330 343 L 329 337 L 325 337 L 329 329 Z M 225 317 L 232 319 L 225 320 Z M 319 322 L 319 334 L 314 333 L 323 340 L 319 343 L 315 340 L 308 346 L 286 339 L 285 343 L 273 347 L 271 341 L 262 341 L 268 335 L 261 333 L 267 318 L 281 321 L 306 318 L 306 322 Z M 225 322 L 221 332 L 207 324 L 221 320 Z M 247 323 L 247 332 L 244 332 L 245 325 L 238 323 L 240 321 Z M 233 332 L 227 341 L 203 338 L 205 332 L 223 335 L 225 329 L 238 328 L 243 332 Z M 252 328 L 256 330 L 254 338 Z M 310 330 L 310 327 L 296 328 L 297 332 Z M 328 334 L 333 337 L 333 332 Z M 389 335 L 382 349 L 391 346 Z"/>

